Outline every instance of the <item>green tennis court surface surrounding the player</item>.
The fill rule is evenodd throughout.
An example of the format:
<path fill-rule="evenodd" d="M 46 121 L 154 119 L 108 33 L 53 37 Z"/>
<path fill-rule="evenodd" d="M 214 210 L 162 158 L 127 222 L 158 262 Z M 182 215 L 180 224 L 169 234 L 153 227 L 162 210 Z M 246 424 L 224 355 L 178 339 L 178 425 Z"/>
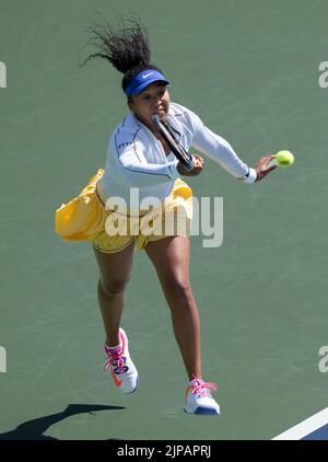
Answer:
<path fill-rule="evenodd" d="M 124 315 L 140 390 L 118 393 L 103 371 L 93 253 L 52 232 L 54 210 L 104 166 L 126 113 L 118 73 L 96 60 L 79 68 L 85 24 L 101 21 L 96 11 L 115 20 L 117 2 L 0 0 L 0 438 L 273 439 L 327 408 L 328 3 L 136 4 L 119 11 L 148 26 L 173 101 L 250 165 L 295 154 L 254 186 L 210 160 L 188 181 L 197 197 L 224 203 L 222 246 L 192 236 L 190 268 L 203 376 L 219 384 L 222 415 L 183 412 L 186 376 L 144 254 Z"/>

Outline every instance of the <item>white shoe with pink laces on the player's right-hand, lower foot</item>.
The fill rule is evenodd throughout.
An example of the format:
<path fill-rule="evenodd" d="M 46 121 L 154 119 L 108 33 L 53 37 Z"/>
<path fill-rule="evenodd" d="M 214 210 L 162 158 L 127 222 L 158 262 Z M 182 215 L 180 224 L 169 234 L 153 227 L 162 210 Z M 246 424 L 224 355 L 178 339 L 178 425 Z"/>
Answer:
<path fill-rule="evenodd" d="M 220 406 L 211 395 L 211 390 L 216 391 L 215 383 L 206 383 L 203 380 L 192 376 L 185 394 L 185 412 L 199 415 L 219 415 Z"/>

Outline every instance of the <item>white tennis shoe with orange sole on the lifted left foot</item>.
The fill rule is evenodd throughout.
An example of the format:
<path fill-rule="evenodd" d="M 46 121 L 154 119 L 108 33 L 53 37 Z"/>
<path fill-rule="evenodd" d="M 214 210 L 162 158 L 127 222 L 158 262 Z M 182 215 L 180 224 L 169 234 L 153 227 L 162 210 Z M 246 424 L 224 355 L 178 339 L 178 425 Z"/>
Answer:
<path fill-rule="evenodd" d="M 128 337 L 125 331 L 119 328 L 120 346 L 110 349 L 105 345 L 107 362 L 105 370 L 109 369 L 114 382 L 124 393 L 133 393 L 139 384 L 138 372 L 128 349 Z"/>

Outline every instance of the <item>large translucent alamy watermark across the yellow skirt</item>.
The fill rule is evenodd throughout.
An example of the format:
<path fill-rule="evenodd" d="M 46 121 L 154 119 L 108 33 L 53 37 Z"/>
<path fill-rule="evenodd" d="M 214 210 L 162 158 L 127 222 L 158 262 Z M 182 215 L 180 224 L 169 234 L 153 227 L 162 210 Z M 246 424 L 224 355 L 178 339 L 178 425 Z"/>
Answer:
<path fill-rule="evenodd" d="M 202 240 L 203 247 L 220 247 L 223 242 L 222 197 L 194 196 L 162 204 L 152 196 L 140 200 L 139 188 L 131 188 L 129 206 L 116 196 L 106 201 L 106 210 L 112 211 L 105 223 L 110 236 L 202 235 L 207 238 Z"/>

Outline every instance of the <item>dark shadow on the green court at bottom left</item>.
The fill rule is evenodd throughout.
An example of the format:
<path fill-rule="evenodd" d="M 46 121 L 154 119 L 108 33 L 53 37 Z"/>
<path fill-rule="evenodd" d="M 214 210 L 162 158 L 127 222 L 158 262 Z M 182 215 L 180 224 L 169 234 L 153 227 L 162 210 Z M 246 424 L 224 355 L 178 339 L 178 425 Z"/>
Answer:
<path fill-rule="evenodd" d="M 44 432 L 51 427 L 68 417 L 75 414 L 92 414 L 96 411 L 117 411 L 125 409 L 120 406 L 105 406 L 105 405 L 92 405 L 92 404 L 69 404 L 65 411 L 49 416 L 35 418 L 33 420 L 24 421 L 14 430 L 0 434 L 0 440 L 56 440 L 57 438 L 48 437 Z"/>

